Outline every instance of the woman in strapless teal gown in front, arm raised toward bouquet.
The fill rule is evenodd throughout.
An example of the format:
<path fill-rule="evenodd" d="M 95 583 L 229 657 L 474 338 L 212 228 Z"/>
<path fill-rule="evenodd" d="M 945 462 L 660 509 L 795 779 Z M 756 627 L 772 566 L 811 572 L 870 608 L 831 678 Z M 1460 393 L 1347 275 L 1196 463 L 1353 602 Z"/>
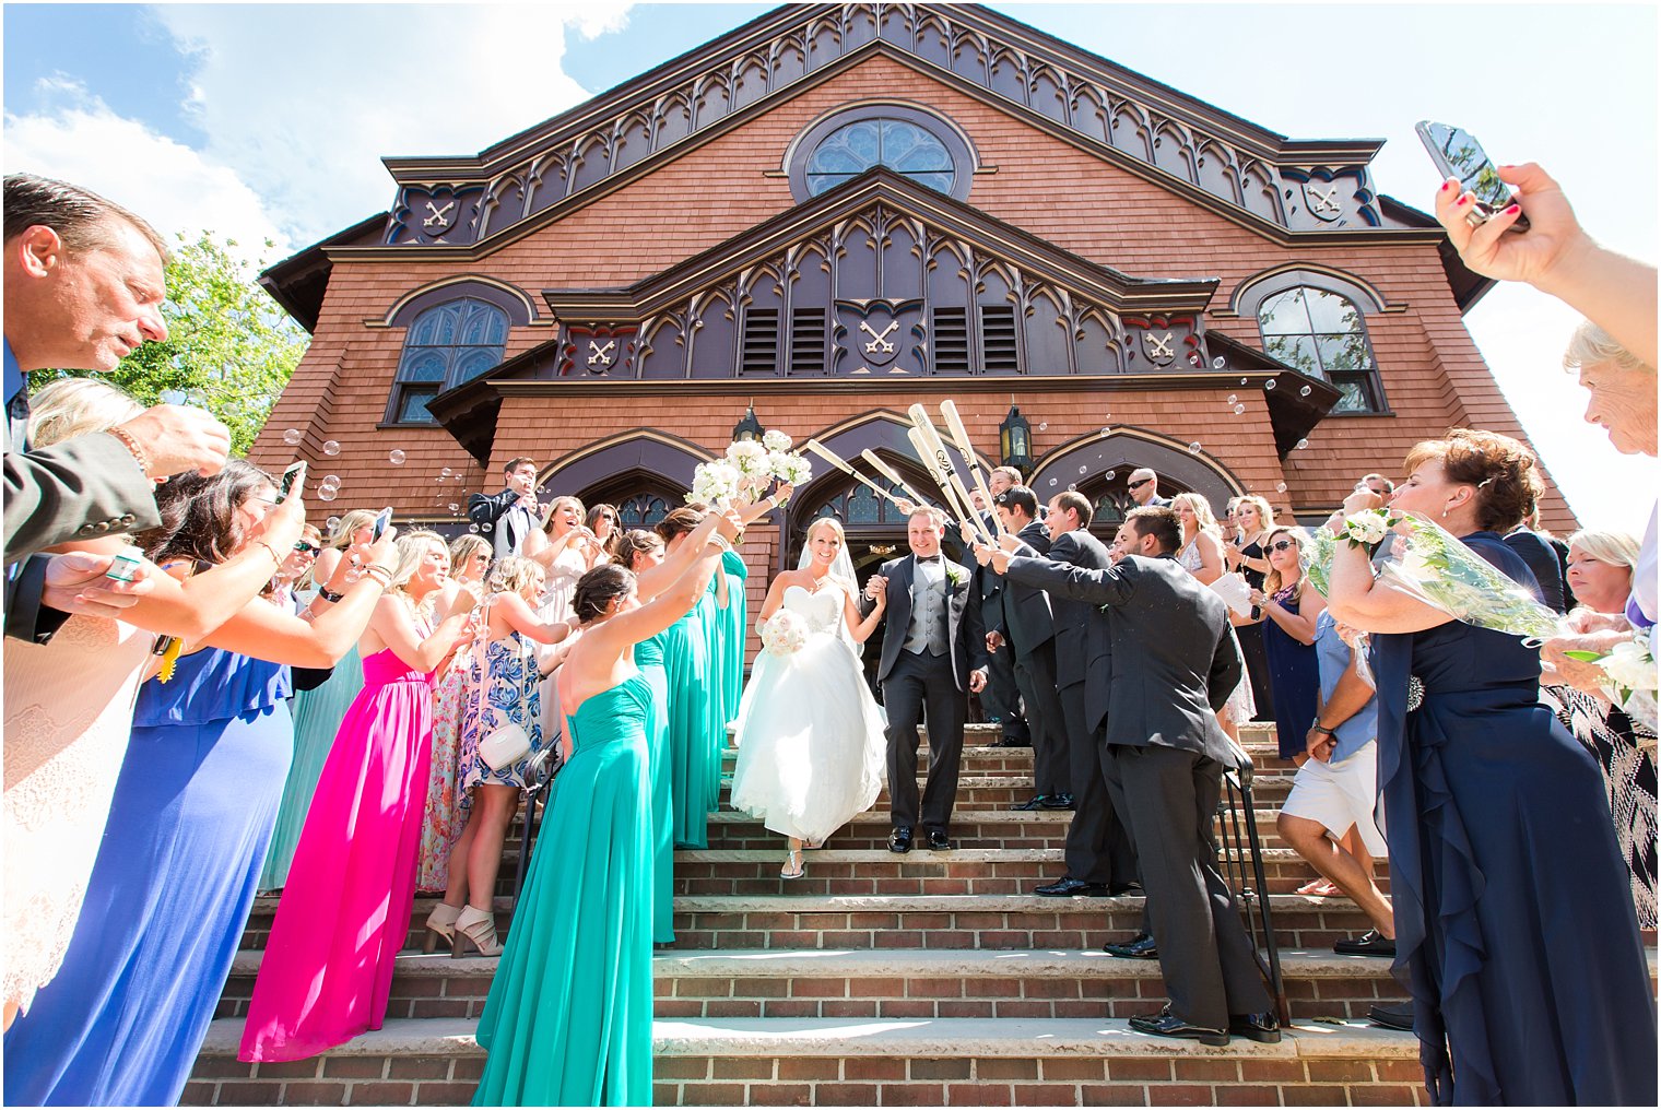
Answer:
<path fill-rule="evenodd" d="M 737 535 L 737 517 L 693 530 L 693 562 L 644 605 L 616 565 L 576 585 L 583 636 L 560 680 L 570 751 L 543 831 L 560 851 L 532 856 L 478 1022 L 473 1105 L 651 1105 L 651 686 L 633 656 L 698 602 L 721 565 L 718 532 Z"/>

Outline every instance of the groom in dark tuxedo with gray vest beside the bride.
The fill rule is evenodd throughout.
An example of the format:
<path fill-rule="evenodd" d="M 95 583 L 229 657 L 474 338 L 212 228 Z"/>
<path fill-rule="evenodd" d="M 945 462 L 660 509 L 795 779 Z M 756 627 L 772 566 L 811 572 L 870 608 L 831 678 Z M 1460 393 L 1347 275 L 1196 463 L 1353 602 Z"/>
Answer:
<path fill-rule="evenodd" d="M 889 798 L 894 832 L 889 849 L 912 851 L 919 824 L 917 724 L 928 715 L 928 786 L 922 826 L 932 851 L 952 847 L 947 829 L 957 801 L 957 766 L 963 751 L 967 693 L 987 685 L 987 635 L 980 620 L 973 572 L 940 553 L 945 517 L 919 508 L 905 522 L 912 553 L 884 563 L 865 583 L 860 610 L 869 613 L 887 592 L 882 620 L 882 701 L 889 713 Z"/>

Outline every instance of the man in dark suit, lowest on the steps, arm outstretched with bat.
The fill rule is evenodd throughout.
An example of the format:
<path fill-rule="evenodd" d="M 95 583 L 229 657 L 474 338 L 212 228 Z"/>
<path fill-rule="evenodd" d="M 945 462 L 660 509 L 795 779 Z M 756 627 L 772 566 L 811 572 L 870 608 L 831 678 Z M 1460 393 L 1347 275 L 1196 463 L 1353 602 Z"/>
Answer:
<path fill-rule="evenodd" d="M 1211 826 L 1232 761 L 1216 710 L 1241 678 L 1227 607 L 1178 565 L 1169 508 L 1134 508 L 1108 570 L 992 555 L 1012 580 L 1110 611 L 1108 793 L 1136 844 L 1148 919 L 1171 1002 L 1131 1027 L 1226 1045 L 1281 1039 L 1269 992 L 1218 872 Z"/>

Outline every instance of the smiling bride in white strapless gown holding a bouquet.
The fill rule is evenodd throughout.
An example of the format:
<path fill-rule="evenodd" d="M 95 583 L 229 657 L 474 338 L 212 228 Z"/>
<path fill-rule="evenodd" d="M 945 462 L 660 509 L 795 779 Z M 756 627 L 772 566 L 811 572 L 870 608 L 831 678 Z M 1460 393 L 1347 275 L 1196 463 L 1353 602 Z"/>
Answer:
<path fill-rule="evenodd" d="M 875 631 L 885 602 L 879 597 L 859 618 L 844 545 L 840 522 L 821 517 L 807 528 L 804 565 L 772 580 L 757 626 L 774 646 L 756 656 L 737 711 L 733 808 L 789 837 L 784 879 L 802 877 L 804 841 L 817 847 L 877 801 L 887 764 L 882 711 L 854 651 Z M 799 648 L 769 635 L 779 613 L 806 626 Z M 791 623 L 779 616 L 771 631 Z"/>

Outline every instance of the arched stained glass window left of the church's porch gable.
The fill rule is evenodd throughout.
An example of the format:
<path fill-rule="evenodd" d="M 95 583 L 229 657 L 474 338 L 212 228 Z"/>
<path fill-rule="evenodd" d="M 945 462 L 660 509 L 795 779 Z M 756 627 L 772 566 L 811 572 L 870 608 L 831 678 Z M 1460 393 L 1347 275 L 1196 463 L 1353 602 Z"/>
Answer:
<path fill-rule="evenodd" d="M 387 419 L 432 424 L 427 402 L 502 362 L 507 341 L 508 314 L 495 304 L 465 297 L 427 309 L 404 339 Z"/>

